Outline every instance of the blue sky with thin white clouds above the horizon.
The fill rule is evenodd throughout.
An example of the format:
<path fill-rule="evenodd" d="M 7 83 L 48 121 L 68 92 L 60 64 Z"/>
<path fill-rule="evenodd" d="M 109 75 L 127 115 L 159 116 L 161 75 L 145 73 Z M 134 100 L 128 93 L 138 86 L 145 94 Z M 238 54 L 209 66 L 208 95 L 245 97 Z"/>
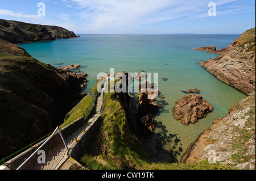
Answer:
<path fill-rule="evenodd" d="M 0 0 L 0 19 L 76 34 L 241 34 L 255 27 L 255 1 Z"/>

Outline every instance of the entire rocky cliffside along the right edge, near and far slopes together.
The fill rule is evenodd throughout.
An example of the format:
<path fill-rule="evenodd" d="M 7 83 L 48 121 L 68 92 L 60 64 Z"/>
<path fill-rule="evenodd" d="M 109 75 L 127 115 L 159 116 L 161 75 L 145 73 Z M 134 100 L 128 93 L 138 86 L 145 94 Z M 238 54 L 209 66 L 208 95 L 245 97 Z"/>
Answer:
<path fill-rule="evenodd" d="M 221 119 L 201 133 L 181 158 L 183 163 L 210 162 L 232 165 L 236 169 L 255 169 L 255 28 L 242 33 L 229 47 L 200 63 L 221 81 L 247 96 Z"/>

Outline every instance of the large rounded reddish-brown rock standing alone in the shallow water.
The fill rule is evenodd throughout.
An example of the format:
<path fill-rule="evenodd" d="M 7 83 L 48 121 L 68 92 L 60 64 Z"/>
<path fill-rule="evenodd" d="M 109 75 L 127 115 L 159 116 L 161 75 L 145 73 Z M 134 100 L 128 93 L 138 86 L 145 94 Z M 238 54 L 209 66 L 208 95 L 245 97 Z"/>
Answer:
<path fill-rule="evenodd" d="M 203 99 L 203 96 L 188 94 L 183 99 L 176 101 L 174 118 L 188 125 L 189 123 L 196 123 L 198 119 L 207 116 L 212 110 L 213 107 Z"/>

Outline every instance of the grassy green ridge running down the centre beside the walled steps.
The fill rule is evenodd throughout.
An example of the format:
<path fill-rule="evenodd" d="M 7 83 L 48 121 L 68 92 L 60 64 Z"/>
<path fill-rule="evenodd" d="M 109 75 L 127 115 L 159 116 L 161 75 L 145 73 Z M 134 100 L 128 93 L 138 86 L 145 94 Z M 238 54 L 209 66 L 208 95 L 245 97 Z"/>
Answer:
<path fill-rule="evenodd" d="M 109 92 L 104 97 L 102 126 L 94 142 L 91 153 L 81 158 L 81 163 L 92 169 L 140 169 L 150 163 L 130 132 L 117 93 Z"/>

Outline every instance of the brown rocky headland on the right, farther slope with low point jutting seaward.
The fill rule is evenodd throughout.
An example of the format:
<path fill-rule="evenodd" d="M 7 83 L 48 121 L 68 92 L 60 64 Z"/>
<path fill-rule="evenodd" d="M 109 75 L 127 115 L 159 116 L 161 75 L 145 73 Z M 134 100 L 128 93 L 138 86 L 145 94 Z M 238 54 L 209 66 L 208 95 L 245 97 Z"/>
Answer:
<path fill-rule="evenodd" d="M 255 28 L 242 33 L 224 49 L 216 50 L 212 47 L 197 49 L 221 54 L 200 63 L 217 79 L 246 95 L 255 91 Z"/>

